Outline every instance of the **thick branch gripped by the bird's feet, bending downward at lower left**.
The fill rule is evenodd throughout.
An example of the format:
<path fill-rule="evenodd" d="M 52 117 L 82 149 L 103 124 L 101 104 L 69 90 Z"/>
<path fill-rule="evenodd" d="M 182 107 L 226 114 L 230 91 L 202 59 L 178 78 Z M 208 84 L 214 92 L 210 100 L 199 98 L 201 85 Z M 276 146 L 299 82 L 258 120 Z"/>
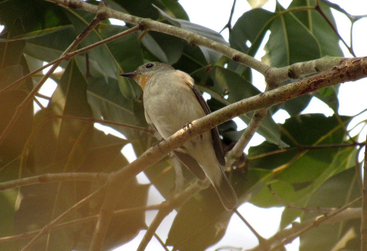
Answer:
<path fill-rule="evenodd" d="M 104 238 L 105 230 L 103 229 L 106 229 L 105 225 L 109 224 L 112 215 L 111 212 L 113 211 L 115 203 L 113 198 L 118 197 L 119 191 L 121 192 L 123 190 L 123 185 L 126 184 L 128 180 L 139 174 L 139 172 L 145 170 L 145 168 L 150 165 L 157 163 L 160 159 L 172 152 L 172 150 L 183 145 L 183 143 L 189 139 L 195 138 L 214 126 L 222 124 L 243 113 L 259 108 L 267 108 L 271 105 L 275 105 L 327 86 L 332 86 L 344 81 L 354 81 L 366 76 L 366 57 L 346 59 L 341 65 L 324 73 L 319 73 L 306 79 L 298 80 L 292 84 L 287 84 L 254 97 L 241 100 L 217 110 L 216 112 L 208 114 L 201 119 L 192 121 L 190 134 L 183 129 L 179 130 L 174 135 L 167 138 L 166 141 L 161 142 L 160 149 L 150 148 L 146 150 L 138 159 L 111 175 L 111 179 L 108 184 L 110 189 L 108 189 L 109 192 L 106 193 L 105 203 L 103 204 L 105 207 L 102 207 L 101 209 L 101 212 L 104 212 L 105 215 L 104 218 L 100 217 L 99 222 L 101 225 L 97 224 L 95 232 L 98 233 L 98 240 L 102 240 Z M 103 228 L 100 228 L 101 226 L 103 226 Z M 95 243 L 96 245 L 91 247 L 91 250 L 98 250 L 98 242 Z"/>

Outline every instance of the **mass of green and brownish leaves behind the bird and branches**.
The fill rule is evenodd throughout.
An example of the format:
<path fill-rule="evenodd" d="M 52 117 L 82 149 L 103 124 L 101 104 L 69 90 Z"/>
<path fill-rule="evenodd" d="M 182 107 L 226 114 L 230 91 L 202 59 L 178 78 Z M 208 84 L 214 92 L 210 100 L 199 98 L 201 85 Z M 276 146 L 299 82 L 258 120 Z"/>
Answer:
<path fill-rule="evenodd" d="M 146 1 L 139 5 L 133 1 L 106 3 L 132 15 L 195 30 L 229 45 L 212 30 L 178 20 L 187 20 L 188 16 L 175 1 Z M 307 5 L 312 7 L 315 3 L 295 0 L 288 8 Z M 63 9 L 40 0 L 1 1 L 0 7 L 1 21 L 6 26 L 1 36 L 1 88 L 39 68 L 43 61 L 49 62 L 59 57 L 94 18 L 94 14 Z M 323 4 L 321 7 L 331 22 L 334 22 L 330 9 Z M 284 9 L 278 4 L 276 10 Z M 264 61 L 272 66 L 283 67 L 325 55 L 342 56 L 337 35 L 325 19 L 320 18 L 319 13 L 281 13 L 274 14 L 261 9 L 245 12 L 233 26 L 229 36 L 230 46 L 253 56 L 265 31 L 269 29 L 272 33 L 266 44 L 268 53 Z M 244 27 L 247 29 L 244 30 Z M 103 21 L 79 47 L 88 46 L 126 29 L 111 25 L 108 20 Z M 247 40 L 251 42 L 250 47 Z M 114 125 L 113 128 L 126 136 L 127 140 L 124 140 L 105 135 L 88 121 L 76 119 L 95 117 L 145 127 L 141 90 L 133 81 L 118 75 L 122 71 L 131 72 L 146 61 L 170 63 L 190 73 L 200 90 L 211 95 L 208 104 L 212 111 L 259 93 L 251 84 L 252 73 L 248 68 L 221 57 L 217 52 L 192 47 L 182 39 L 157 32 L 129 34 L 89 50 L 87 55 L 81 54 L 75 59 L 64 61 L 61 65 L 63 71 L 52 75 L 58 86 L 47 107 L 34 115 L 31 104 L 22 107 L 21 118 L 1 144 L 2 181 L 45 173 L 116 171 L 128 163 L 120 153 L 124 145 L 132 143 L 137 156 L 150 147 L 150 139 L 145 132 Z M 28 79 L 16 88 L 1 93 L 1 131 L 39 78 L 33 76 L 33 83 Z M 228 97 L 224 98 L 225 95 Z M 335 115 L 299 115 L 312 95 L 325 102 L 334 110 Z M 242 203 L 250 201 L 259 207 L 292 205 L 299 209 L 332 208 L 345 205 L 361 195 L 360 164 L 356 162 L 356 147 L 360 144 L 354 141 L 356 138 L 349 138 L 346 134 L 345 127 L 352 117 L 337 115 L 338 86 L 312 95 L 270 108 L 258 130 L 267 141 L 250 148 L 246 168 L 239 166 L 230 172 Z M 291 115 L 283 125 L 276 124 L 271 117 L 279 109 Z M 57 116 L 63 116 L 64 119 Z M 244 114 L 241 119 L 248 123 L 251 114 Z M 230 145 L 238 140 L 241 132 L 236 129 L 233 121 L 219 126 L 224 143 Z M 348 147 L 315 147 L 340 144 L 348 144 Z M 281 149 L 280 146 L 286 145 L 289 148 L 285 149 L 293 150 L 274 153 Z M 192 175 L 184 173 L 187 181 L 191 181 Z M 173 195 L 174 171 L 168 158 L 148 168 L 145 174 L 166 199 Z M 100 185 L 98 182 L 69 181 L 3 191 L 1 210 L 7 217 L 3 217 L 1 222 L 1 236 L 41 228 Z M 132 181 L 126 191 L 119 200 L 120 209 L 146 205 L 147 185 Z M 75 211 L 68 220 L 97 213 L 100 203 L 100 199 L 92 201 Z M 315 216 L 312 212 L 299 209 L 284 210 L 281 229 L 297 217 L 304 221 Z M 214 244 L 224 234 L 232 215 L 220 207 L 215 193 L 210 189 L 200 192 L 177 210 L 167 244 L 175 245 L 180 250 L 200 250 Z M 201 210 L 206 213 L 200 214 Z M 221 228 L 218 228 L 218 224 Z M 116 216 L 104 248 L 116 247 L 129 241 L 140 229 L 146 227 L 143 211 Z M 89 245 L 93 228 L 94 222 L 89 222 L 77 225 L 77 228 L 69 226 L 54 230 L 32 248 L 40 250 L 46 245 L 50 250 L 84 250 Z M 345 240 L 349 241 L 349 248 L 359 247 L 359 228 L 358 220 L 313 228 L 301 236 L 301 250 L 315 250 L 315 243 L 320 247 L 321 240 L 315 241 L 317 237 L 322 237 L 325 250 Z M 350 235 L 350 232 L 354 235 Z M 0 245 L 5 250 L 17 250 L 28 241 L 2 241 Z"/>

